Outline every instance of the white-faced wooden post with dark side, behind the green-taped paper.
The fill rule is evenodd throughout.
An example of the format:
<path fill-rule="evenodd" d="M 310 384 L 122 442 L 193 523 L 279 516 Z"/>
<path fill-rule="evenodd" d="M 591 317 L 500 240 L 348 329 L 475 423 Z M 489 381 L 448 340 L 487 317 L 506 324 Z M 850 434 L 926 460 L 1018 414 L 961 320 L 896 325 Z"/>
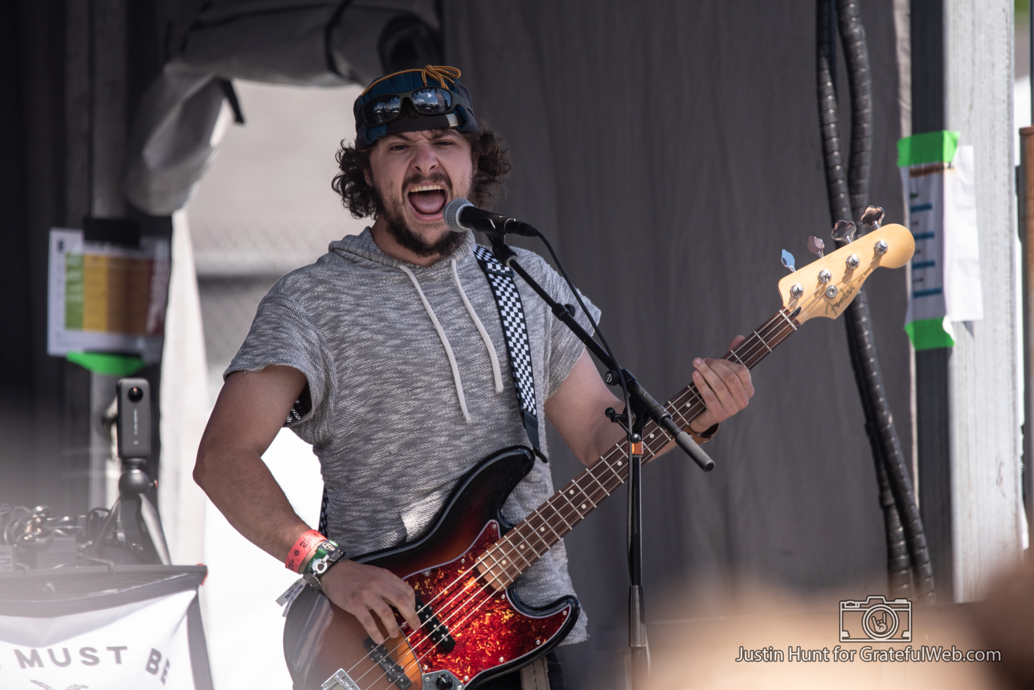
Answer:
<path fill-rule="evenodd" d="M 919 487 L 940 601 L 974 601 L 1020 560 L 1020 352 L 1012 3 L 912 0 L 912 131 L 974 147 L 982 321 L 916 353 Z"/>

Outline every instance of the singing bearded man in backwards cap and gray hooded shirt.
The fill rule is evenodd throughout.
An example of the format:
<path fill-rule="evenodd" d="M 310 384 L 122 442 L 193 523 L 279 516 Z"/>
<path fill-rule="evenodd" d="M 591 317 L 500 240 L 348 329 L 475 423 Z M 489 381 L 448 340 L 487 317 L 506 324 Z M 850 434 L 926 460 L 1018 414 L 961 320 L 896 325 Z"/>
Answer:
<path fill-rule="evenodd" d="M 479 460 L 529 444 L 475 238 L 443 220 L 453 199 L 489 205 L 510 171 L 501 140 L 479 125 L 459 77 L 445 66 L 405 70 L 373 82 L 358 98 L 356 142 L 338 153 L 334 188 L 353 215 L 371 216 L 373 224 L 332 242 L 318 261 L 283 276 L 263 299 L 226 369 L 194 469 L 194 479 L 241 534 L 276 559 L 286 557 L 287 567 L 306 574 L 377 643 L 385 637 L 375 621 L 391 636 L 399 634 L 393 607 L 420 627 L 414 591 L 393 573 L 348 557 L 419 537 Z M 516 251 L 556 300 L 575 302 L 545 261 Z M 604 416 L 624 403 L 584 346 L 526 283 L 515 281 L 537 416 L 547 417 L 591 466 L 624 439 Z M 693 383 L 707 404 L 688 429 L 699 442 L 747 407 L 754 389 L 740 364 L 696 359 L 694 367 Z M 322 534 L 310 534 L 262 461 L 285 419 L 320 458 Z M 539 443 L 546 453 L 544 432 Z M 536 462 L 504 513 L 522 519 L 552 493 L 549 466 Z M 333 567 L 313 569 L 312 563 L 325 568 L 342 551 Z M 573 594 L 564 542 L 515 588 L 533 605 Z M 565 643 L 586 638 L 585 621 L 581 616 Z M 548 659 L 550 683 L 560 690 L 559 664 L 555 655 Z M 519 673 L 483 687 L 515 684 Z"/>

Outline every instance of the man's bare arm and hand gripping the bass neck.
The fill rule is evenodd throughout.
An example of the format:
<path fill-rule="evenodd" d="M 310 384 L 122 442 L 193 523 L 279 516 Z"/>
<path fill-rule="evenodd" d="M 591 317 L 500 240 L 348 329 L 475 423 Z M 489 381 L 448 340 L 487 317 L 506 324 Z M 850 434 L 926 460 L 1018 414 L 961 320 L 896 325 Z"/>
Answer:
<path fill-rule="evenodd" d="M 743 341 L 737 335 L 729 350 Z M 701 433 L 747 407 L 754 395 L 751 371 L 742 364 L 724 359 L 693 360 L 693 383 L 707 409 L 690 428 Z M 604 416 L 607 408 L 620 411 L 618 400 L 600 378 L 588 352 L 583 352 L 571 373 L 546 400 L 546 416 L 583 464 L 591 466 L 625 431 Z"/>

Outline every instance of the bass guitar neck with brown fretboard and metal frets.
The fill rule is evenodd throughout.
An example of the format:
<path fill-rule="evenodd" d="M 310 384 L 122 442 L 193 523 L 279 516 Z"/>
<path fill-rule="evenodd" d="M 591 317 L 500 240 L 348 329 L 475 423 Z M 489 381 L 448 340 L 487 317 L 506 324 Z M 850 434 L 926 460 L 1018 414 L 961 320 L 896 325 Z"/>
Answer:
<path fill-rule="evenodd" d="M 796 311 L 780 309 L 750 337 L 729 351 L 725 359 L 753 369 L 797 330 L 799 324 L 796 316 Z M 664 407 L 682 428 L 688 427 L 706 409 L 703 397 L 693 384 L 680 390 Z M 667 432 L 652 420 L 644 425 L 642 436 L 643 463 L 657 457 L 672 443 Z M 627 444 L 614 444 L 592 467 L 568 482 L 489 548 L 481 557 L 479 570 L 493 588 L 509 587 L 518 575 L 592 512 L 600 502 L 620 487 L 628 477 Z"/>

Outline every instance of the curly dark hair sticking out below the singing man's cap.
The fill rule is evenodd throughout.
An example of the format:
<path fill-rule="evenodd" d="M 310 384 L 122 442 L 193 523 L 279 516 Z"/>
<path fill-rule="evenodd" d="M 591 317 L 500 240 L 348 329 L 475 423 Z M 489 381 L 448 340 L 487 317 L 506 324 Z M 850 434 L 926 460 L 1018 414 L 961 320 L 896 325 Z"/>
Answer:
<path fill-rule="evenodd" d="M 491 208 L 503 201 L 506 193 L 503 183 L 512 168 L 510 150 L 503 137 L 486 123 L 482 123 L 478 131 L 461 133 L 470 143 L 470 155 L 475 161 L 474 180 L 468 192 L 470 202 L 475 206 Z M 372 150 L 373 146 L 357 148 L 342 141 L 337 152 L 337 164 L 341 172 L 334 176 L 331 186 L 341 196 L 344 208 L 352 211 L 356 218 L 376 217 L 382 210 L 376 190 L 366 183 L 365 173 L 370 169 Z"/>

